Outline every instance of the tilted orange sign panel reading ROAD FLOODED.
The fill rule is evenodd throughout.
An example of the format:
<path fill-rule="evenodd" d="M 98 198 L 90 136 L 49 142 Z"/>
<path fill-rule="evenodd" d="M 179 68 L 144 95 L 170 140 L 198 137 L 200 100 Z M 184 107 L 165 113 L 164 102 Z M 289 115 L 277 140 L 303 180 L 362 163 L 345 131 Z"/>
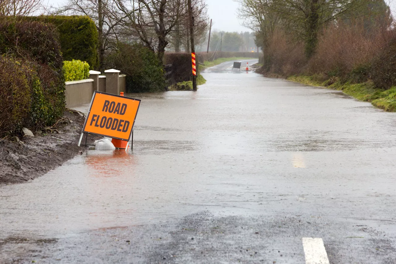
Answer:
<path fill-rule="evenodd" d="M 82 132 L 129 141 L 140 101 L 95 91 Z"/>

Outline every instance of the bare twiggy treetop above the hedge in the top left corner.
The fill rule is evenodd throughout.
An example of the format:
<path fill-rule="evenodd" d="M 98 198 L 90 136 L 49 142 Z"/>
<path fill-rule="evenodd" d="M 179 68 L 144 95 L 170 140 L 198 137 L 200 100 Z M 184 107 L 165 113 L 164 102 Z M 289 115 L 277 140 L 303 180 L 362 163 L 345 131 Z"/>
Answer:
<path fill-rule="evenodd" d="M 42 0 L 0 0 L 0 16 L 28 16 L 41 7 Z"/>

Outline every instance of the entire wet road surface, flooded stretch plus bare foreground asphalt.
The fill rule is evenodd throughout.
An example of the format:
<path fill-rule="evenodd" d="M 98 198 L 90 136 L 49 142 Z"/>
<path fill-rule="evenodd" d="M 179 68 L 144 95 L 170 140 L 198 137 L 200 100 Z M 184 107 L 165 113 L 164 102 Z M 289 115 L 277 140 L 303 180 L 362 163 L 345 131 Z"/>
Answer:
<path fill-rule="evenodd" d="M 130 95 L 133 152 L 1 186 L 0 263 L 297 264 L 316 237 L 331 264 L 395 264 L 396 113 L 231 67 Z"/>

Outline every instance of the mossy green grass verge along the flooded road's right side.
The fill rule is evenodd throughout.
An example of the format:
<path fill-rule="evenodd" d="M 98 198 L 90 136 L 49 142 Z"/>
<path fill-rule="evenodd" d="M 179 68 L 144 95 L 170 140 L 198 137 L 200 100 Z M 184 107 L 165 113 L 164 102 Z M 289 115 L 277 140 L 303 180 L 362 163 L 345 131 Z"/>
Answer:
<path fill-rule="evenodd" d="M 326 80 L 324 82 L 315 78 L 315 76 L 291 76 L 287 78 L 293 82 L 299 82 L 310 86 L 327 87 L 333 90 L 343 91 L 345 94 L 352 96 L 360 101 L 370 102 L 375 107 L 384 109 L 388 112 L 396 112 L 396 86 L 390 89 L 377 89 L 373 82 L 364 82 L 351 84 L 346 82 L 341 84 L 338 81 Z"/>

